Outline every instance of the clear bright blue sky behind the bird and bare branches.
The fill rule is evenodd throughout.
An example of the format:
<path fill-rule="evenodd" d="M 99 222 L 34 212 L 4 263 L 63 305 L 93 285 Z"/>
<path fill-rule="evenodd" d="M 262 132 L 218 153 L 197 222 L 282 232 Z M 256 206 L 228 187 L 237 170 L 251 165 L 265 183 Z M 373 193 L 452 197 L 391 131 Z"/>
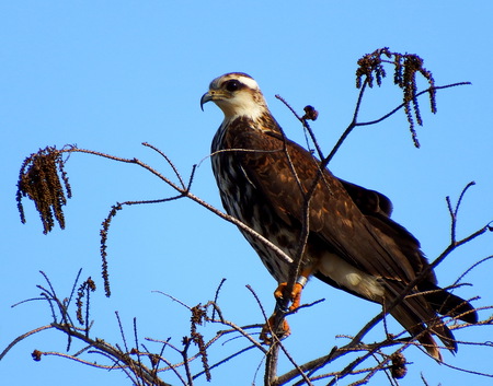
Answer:
<path fill-rule="evenodd" d="M 141 337 L 180 344 L 188 332 L 187 311 L 158 290 L 188 305 L 213 299 L 222 278 L 220 305 L 238 324 L 260 323 L 261 313 L 244 288 L 251 284 L 267 309 L 274 302 L 274 280 L 239 232 L 191 201 L 125 208 L 114 220 L 108 241 L 113 296 L 102 295 L 99 230 L 116 201 L 158 199 L 172 191 L 134 165 L 73 154 L 67 172 L 73 198 L 66 207 L 67 229 L 42 234 L 31 202 L 27 224 L 15 208 L 15 184 L 24 157 L 46 145 L 67 143 L 118 156 L 139 157 L 171 175 L 147 141 L 164 151 L 184 176 L 209 152 L 221 120 L 214 105 L 199 109 L 199 98 L 213 78 L 230 71 L 250 73 L 260 83 L 277 120 L 289 137 L 303 136 L 290 113 L 275 100 L 283 95 L 298 112 L 316 106 L 313 124 L 329 151 L 351 120 L 357 91 L 356 60 L 388 46 L 416 52 L 437 84 L 470 81 L 472 85 L 438 93 L 438 114 L 424 114 L 413 148 L 403 114 L 356 130 L 331 163 L 344 179 L 377 189 L 394 203 L 394 219 L 405 225 L 433 259 L 448 244 L 449 217 L 445 197 L 456 199 L 470 180 L 474 186 L 459 213 L 458 234 L 466 236 L 493 220 L 490 75 L 493 3 L 463 1 L 15 1 L 0 3 L 0 164 L 3 213 L 0 233 L 0 348 L 50 320 L 42 303 L 10 305 L 38 294 L 45 271 L 62 296 L 79 268 L 99 285 L 92 316 L 95 335 L 121 342 L 114 312 L 131 336 L 137 317 Z M 422 84 L 425 86 L 425 84 Z M 386 80 L 367 94 L 362 119 L 380 117 L 399 101 Z M 426 105 L 422 100 L 422 106 Z M 220 206 L 209 163 L 200 164 L 193 191 Z M 472 262 L 492 254 L 485 235 L 449 257 L 437 269 L 442 284 L 452 283 Z M 493 303 L 492 264 L 471 272 L 472 288 L 460 295 L 481 295 L 479 306 Z M 356 334 L 378 307 L 316 281 L 306 302 L 325 297 L 312 309 L 290 318 L 294 335 L 286 341 L 299 362 L 326 353 L 339 334 Z M 341 311 L 342 308 L 342 311 Z M 488 313 L 482 314 L 488 315 Z M 395 329 L 398 328 L 394 326 Z M 214 335 L 215 326 L 206 334 Z M 380 335 L 379 335 L 380 334 Z M 376 339 L 381 329 L 375 332 Z M 491 340 L 491 328 L 457 332 L 459 340 Z M 370 339 L 371 336 L 368 338 Z M 124 375 L 89 369 L 62 359 L 31 360 L 34 349 L 62 351 L 55 332 L 16 346 L 0 362 L 5 384 L 121 385 Z M 233 352 L 245 343 L 227 343 Z M 218 347 L 218 350 L 220 348 Z M 220 351 L 220 350 L 219 350 Z M 491 352 L 460 347 L 451 364 L 491 369 Z M 402 385 L 419 384 L 420 372 L 431 385 L 491 379 L 437 365 L 419 350 L 408 350 L 414 365 Z M 226 364 L 213 373 L 215 385 L 250 385 L 260 353 Z M 171 375 L 165 381 L 177 384 Z M 262 378 L 256 379 L 262 384 Z M 205 379 L 197 384 L 205 384 Z"/>

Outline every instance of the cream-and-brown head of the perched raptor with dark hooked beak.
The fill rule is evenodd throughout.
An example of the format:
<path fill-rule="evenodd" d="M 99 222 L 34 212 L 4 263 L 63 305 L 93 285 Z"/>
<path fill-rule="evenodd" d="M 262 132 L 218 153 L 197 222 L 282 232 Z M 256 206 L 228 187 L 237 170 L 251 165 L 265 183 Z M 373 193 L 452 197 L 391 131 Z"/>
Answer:
<path fill-rule="evenodd" d="M 209 91 L 202 96 L 200 108 L 209 101 L 219 106 L 227 120 L 240 116 L 255 119 L 267 112 L 259 84 L 242 72 L 230 72 L 211 81 Z"/>

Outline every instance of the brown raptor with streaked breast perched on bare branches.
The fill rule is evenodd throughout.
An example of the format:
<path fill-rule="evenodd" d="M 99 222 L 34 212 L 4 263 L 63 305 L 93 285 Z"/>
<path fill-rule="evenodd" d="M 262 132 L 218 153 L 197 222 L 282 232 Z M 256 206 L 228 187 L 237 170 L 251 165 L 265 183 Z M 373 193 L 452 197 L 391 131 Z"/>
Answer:
<path fill-rule="evenodd" d="M 288 256 L 296 254 L 303 224 L 308 225 L 300 277 L 291 294 L 294 307 L 310 277 L 385 307 L 421 276 L 423 280 L 390 314 L 436 360 L 442 355 L 432 335 L 457 351 L 438 314 L 467 323 L 477 323 L 478 316 L 468 302 L 437 285 L 417 239 L 390 219 L 390 200 L 321 171 L 311 152 L 285 138 L 250 75 L 232 72 L 216 78 L 200 107 L 209 101 L 225 115 L 213 140 L 211 162 L 226 211 Z M 275 294 L 280 296 L 289 262 L 240 231 L 279 283 Z"/>

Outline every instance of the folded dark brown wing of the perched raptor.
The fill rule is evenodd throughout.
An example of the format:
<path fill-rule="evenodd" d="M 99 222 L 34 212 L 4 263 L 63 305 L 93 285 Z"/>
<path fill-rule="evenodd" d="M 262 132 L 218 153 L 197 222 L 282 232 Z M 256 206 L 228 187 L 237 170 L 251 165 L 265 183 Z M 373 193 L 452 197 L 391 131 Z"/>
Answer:
<path fill-rule="evenodd" d="M 230 149 L 259 150 L 239 151 L 234 156 L 248 178 L 282 219 L 301 222 L 306 194 L 319 173 L 318 162 L 311 153 L 294 142 L 260 130 L 234 130 L 230 127 L 227 140 Z M 374 203 L 374 208 L 378 208 L 374 211 L 365 206 L 367 213 L 374 213 L 372 217 L 365 215 L 347 192 L 347 187 L 353 191 L 358 188 L 339 180 L 328 169 L 323 171 L 323 178 L 310 201 L 310 231 L 329 243 L 340 257 L 364 272 L 403 282 L 412 280 L 422 268 L 421 253 L 410 258 L 394 238 L 403 236 L 411 249 L 419 247 L 419 244 L 402 227 L 393 227 L 394 223 L 388 219 L 390 200 L 374 192 L 372 199 L 377 198 L 383 206 Z M 368 201 L 360 199 L 359 202 Z M 416 254 L 416 250 L 413 253 Z"/>

